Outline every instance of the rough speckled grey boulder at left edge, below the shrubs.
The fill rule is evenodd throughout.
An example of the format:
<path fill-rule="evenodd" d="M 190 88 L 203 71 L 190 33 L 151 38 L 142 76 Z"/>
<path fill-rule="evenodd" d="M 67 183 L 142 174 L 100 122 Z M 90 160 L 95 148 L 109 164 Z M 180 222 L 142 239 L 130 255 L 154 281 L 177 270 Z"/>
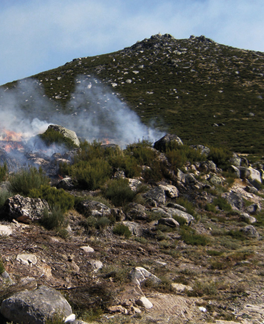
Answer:
<path fill-rule="evenodd" d="M 15 195 L 7 198 L 1 213 L 8 221 L 15 219 L 20 222 L 28 222 L 40 220 L 44 209 L 49 209 L 48 203 L 44 199 Z"/>

